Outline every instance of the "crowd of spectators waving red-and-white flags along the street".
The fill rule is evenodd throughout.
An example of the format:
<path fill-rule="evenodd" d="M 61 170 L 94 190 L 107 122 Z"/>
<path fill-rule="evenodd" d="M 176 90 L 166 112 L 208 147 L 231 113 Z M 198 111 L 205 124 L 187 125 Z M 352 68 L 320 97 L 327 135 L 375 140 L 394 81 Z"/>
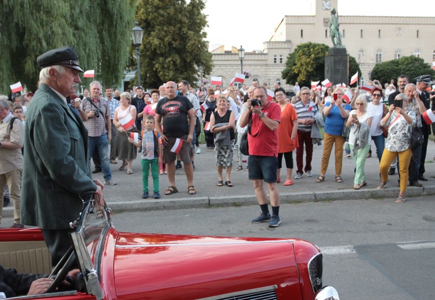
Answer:
<path fill-rule="evenodd" d="M 45 86 L 52 80 L 50 76 L 51 73 L 41 75 L 39 89 L 51 95 Z M 86 153 L 81 153 L 84 148 L 77 147 L 74 155 L 81 153 L 83 156 L 83 170 L 90 167 L 92 159 L 95 166 L 92 173 L 103 172 L 103 182 L 86 182 L 87 193 L 92 189 L 98 191 L 97 186 L 116 185 L 110 164 L 119 163 L 119 170 L 133 174 L 133 164 L 139 152 L 142 198 L 161 197 L 159 175 L 163 174 L 167 174 L 169 186 L 162 194 L 177 193 L 176 170 L 182 168 L 187 178 L 187 193 L 194 195 L 197 193 L 194 187 L 195 154 L 201 153 L 200 138 L 204 135 L 205 146 L 215 151 L 216 185 L 233 187 L 231 172 L 233 163 L 237 162 L 235 171 L 247 171 L 261 208 L 260 216 L 252 222 L 267 221 L 269 226 L 276 227 L 281 222 L 277 184 L 281 182 L 282 160 L 284 158 L 286 168 L 283 186 L 293 185 L 294 179 L 299 180 L 304 174 L 312 177 L 313 145 L 323 144 L 317 183 L 325 181 L 334 149 L 334 180 L 343 182 L 343 160 L 351 158 L 355 166 L 352 187 L 356 190 L 365 187 L 365 163 L 371 157 L 372 141 L 379 160 L 378 189 L 384 188 L 388 176 L 398 169 L 400 193 L 397 203 L 405 201 L 408 182 L 410 186 L 421 186 L 419 181 L 427 181 L 424 164 L 431 127 L 422 115 L 426 110 L 435 110 L 435 93 L 426 91 L 431 83 L 430 76 L 421 76 L 415 81 L 417 85 L 401 75 L 397 79 L 397 88 L 394 81 L 384 87 L 378 81 L 371 81 L 369 90 L 343 86 L 319 90 L 295 84 L 293 98 L 279 84 L 272 88 L 260 86 L 256 79 L 252 80 L 251 86 L 240 84 L 228 89 L 204 84 L 195 89 L 185 80 L 178 83 L 169 81 L 150 91 L 138 86 L 134 91 L 122 93 L 113 91 L 112 87 L 103 90 L 100 82 L 93 81 L 83 95 L 74 94 L 74 85 L 71 93 L 66 88 L 63 92 L 65 104 L 70 109 L 66 113 L 74 116 L 72 121 L 79 124 L 76 133 L 68 130 L 69 139 L 86 140 Z M 275 95 L 272 100 L 268 98 L 270 89 Z M 350 91 L 350 97 L 345 97 L 347 91 Z M 7 96 L 0 96 L 0 189 L 6 187 L 4 205 L 8 204 L 9 198 L 13 199 L 12 227 L 15 228 L 23 226 L 20 222 L 22 153 L 32 151 L 27 146 L 23 148 L 25 136 L 36 134 L 34 126 L 41 126 L 37 132 L 40 139 L 55 129 L 45 128 L 43 120 L 32 118 L 32 114 L 29 117 L 28 112 L 34 112 L 36 107 L 29 106 L 33 96 L 29 92 L 15 97 L 13 102 Z M 32 127 L 26 127 L 25 131 L 29 118 Z M 423 142 L 413 146 L 412 135 L 418 131 L 416 128 L 420 129 Z M 247 135 L 249 155 L 240 149 L 244 135 Z M 35 147 L 35 136 L 29 136 L 29 139 L 30 146 Z M 293 177 L 295 150 L 296 172 Z M 40 155 L 38 148 L 34 151 Z M 30 156 L 28 159 L 35 158 Z M 151 193 L 148 183 L 150 170 Z M 74 168 L 63 171 L 74 172 Z M 272 214 L 263 182 L 269 190 Z"/>

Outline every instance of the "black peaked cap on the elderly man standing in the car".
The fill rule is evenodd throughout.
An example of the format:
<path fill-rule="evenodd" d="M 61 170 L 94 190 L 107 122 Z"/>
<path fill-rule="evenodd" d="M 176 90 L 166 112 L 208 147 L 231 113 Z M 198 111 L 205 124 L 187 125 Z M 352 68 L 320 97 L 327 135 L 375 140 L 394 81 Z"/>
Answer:
<path fill-rule="evenodd" d="M 41 68 L 62 65 L 83 72 L 79 66 L 79 56 L 76 50 L 70 46 L 47 51 L 38 57 L 37 62 Z"/>

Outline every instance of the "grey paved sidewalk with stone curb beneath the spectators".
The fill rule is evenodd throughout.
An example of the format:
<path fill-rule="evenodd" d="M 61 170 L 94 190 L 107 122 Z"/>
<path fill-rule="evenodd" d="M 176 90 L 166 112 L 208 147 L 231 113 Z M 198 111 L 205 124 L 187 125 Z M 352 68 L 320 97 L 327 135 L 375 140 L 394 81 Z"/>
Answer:
<path fill-rule="evenodd" d="M 104 195 L 108 206 L 114 211 L 142 211 L 142 210 L 164 210 L 180 208 L 198 208 L 198 207 L 219 207 L 219 206 L 239 206 L 239 205 L 256 205 L 257 200 L 254 194 L 252 182 L 248 180 L 248 172 L 244 169 L 235 171 L 237 167 L 237 154 L 234 153 L 234 164 L 231 172 L 231 182 L 233 187 L 216 186 L 218 174 L 215 169 L 215 152 L 207 149 L 204 144 L 201 145 L 201 154 L 195 155 L 195 165 L 197 170 L 194 171 L 194 185 L 197 191 L 196 195 L 189 196 L 187 193 L 187 181 L 183 169 L 176 171 L 176 186 L 178 193 L 170 196 L 164 195 L 168 186 L 167 176 L 160 175 L 160 199 L 142 199 L 142 172 L 140 165 L 140 154 L 132 164 L 133 174 L 128 175 L 126 170 L 119 171 L 117 164 L 111 164 L 112 178 L 117 182 L 116 186 L 105 186 Z M 296 153 L 293 153 L 294 171 L 293 185 L 283 186 L 285 181 L 285 163 L 281 170 L 281 183 L 278 184 L 278 190 L 281 195 L 281 203 L 298 203 L 312 201 L 332 201 L 334 199 L 368 199 L 368 198 L 391 198 L 399 194 L 397 187 L 397 171 L 394 176 L 389 177 L 389 183 L 385 189 L 377 190 L 379 179 L 379 162 L 376 157 L 376 147 L 372 145 L 372 157 L 366 161 L 366 178 L 367 186 L 360 190 L 354 190 L 353 187 L 353 169 L 352 159 L 343 158 L 342 178 L 343 183 L 336 183 L 334 179 L 334 157 L 329 160 L 328 171 L 323 183 L 317 183 L 319 176 L 320 160 L 322 157 L 322 146 L 314 146 L 312 173 L 313 177 L 306 177 L 304 174 L 301 179 L 294 179 L 296 174 Z M 333 152 L 332 152 L 333 153 Z M 421 182 L 423 187 L 408 187 L 406 195 L 419 196 L 435 194 L 435 161 L 432 160 L 435 155 L 435 143 L 429 141 L 426 155 L 426 173 L 427 182 Z M 93 169 L 93 168 L 92 168 Z M 103 181 L 103 173 L 93 174 L 93 178 Z M 225 178 L 225 170 L 224 170 Z M 149 188 L 152 191 L 152 178 L 150 174 Z M 267 187 L 264 185 L 264 188 Z M 152 193 L 151 193 L 152 194 Z M 3 209 L 3 217 L 13 215 L 12 204 Z"/>

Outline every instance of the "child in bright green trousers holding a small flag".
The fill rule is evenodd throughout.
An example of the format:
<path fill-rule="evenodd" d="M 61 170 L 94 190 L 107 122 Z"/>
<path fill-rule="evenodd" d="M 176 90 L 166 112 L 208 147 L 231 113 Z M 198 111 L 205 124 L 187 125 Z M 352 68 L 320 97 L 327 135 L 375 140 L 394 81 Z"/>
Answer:
<path fill-rule="evenodd" d="M 154 118 L 147 115 L 144 119 L 144 131 L 131 133 L 128 141 L 136 147 L 142 146 L 142 198 L 148 198 L 148 175 L 151 167 L 153 176 L 154 199 L 160 198 L 159 193 L 159 163 L 161 161 L 162 146 L 159 142 L 159 134 L 154 130 Z"/>

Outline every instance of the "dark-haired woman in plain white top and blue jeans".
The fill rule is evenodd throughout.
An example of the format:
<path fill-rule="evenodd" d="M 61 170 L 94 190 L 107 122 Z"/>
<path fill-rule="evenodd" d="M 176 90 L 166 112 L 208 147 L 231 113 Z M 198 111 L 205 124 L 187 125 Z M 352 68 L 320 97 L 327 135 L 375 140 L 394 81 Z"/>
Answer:
<path fill-rule="evenodd" d="M 380 162 L 383 149 L 385 148 L 385 137 L 383 136 L 382 127 L 380 126 L 380 120 L 388 112 L 388 108 L 380 103 L 380 99 L 382 98 L 382 90 L 380 88 L 375 86 L 371 94 L 372 102 L 367 104 L 367 112 L 369 115 L 373 116 L 370 135 L 372 141 L 375 143 L 376 154 Z"/>

